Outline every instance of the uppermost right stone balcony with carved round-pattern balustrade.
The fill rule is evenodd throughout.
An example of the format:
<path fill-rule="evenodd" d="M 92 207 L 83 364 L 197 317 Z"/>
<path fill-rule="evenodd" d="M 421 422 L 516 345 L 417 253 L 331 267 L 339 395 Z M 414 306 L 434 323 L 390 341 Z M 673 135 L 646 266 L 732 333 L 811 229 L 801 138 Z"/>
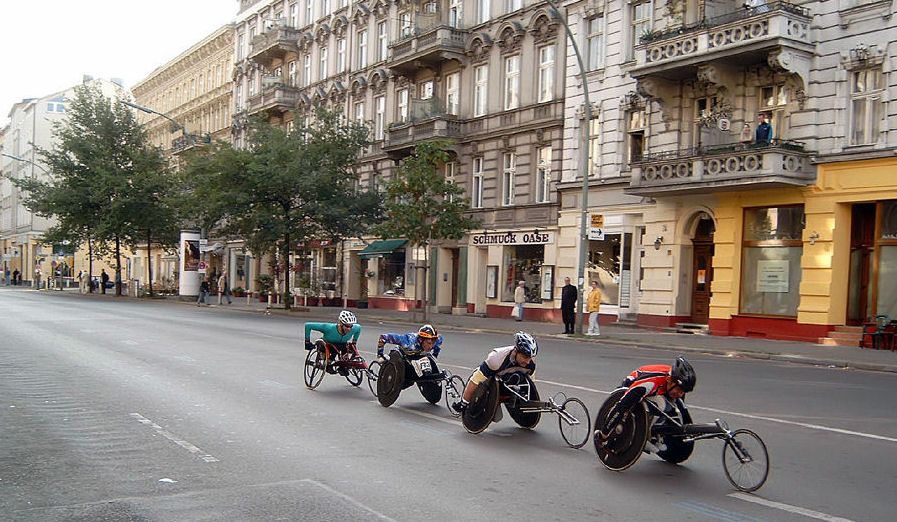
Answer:
<path fill-rule="evenodd" d="M 809 61 L 814 48 L 811 20 L 803 7 L 771 2 L 651 33 L 642 37 L 636 48 L 636 65 L 629 73 L 636 79 L 659 76 L 681 80 L 694 77 L 701 64 L 720 60 L 744 66 L 765 63 L 770 52 L 777 50 L 795 52 Z"/>

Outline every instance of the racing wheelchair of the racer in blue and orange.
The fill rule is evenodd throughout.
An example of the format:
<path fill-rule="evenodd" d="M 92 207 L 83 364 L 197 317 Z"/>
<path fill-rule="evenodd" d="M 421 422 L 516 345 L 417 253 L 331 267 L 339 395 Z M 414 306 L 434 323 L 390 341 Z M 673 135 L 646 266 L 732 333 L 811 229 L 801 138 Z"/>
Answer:
<path fill-rule="evenodd" d="M 451 404 L 461 397 L 464 380 L 448 370 L 440 370 L 430 352 L 398 347 L 390 350 L 385 362 L 374 361 L 370 365 L 368 387 L 385 408 L 396 402 L 402 390 L 414 384 L 431 404 L 438 404 L 444 396 L 446 407 L 457 416 Z"/>

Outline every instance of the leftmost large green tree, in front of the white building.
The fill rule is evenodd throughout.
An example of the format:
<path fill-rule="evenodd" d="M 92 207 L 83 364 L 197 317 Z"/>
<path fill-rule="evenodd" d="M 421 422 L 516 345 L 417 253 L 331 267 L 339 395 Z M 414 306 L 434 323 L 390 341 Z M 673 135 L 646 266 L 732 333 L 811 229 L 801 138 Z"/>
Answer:
<path fill-rule="evenodd" d="M 133 110 L 121 100 L 80 85 L 66 111 L 54 127 L 53 149 L 39 150 L 50 178 L 14 183 L 26 192 L 29 210 L 56 218 L 45 240 L 87 241 L 101 252 L 111 244 L 121 295 L 121 245 L 151 242 L 163 230 L 159 237 L 170 237 L 176 223 L 164 202 L 174 185 L 160 151 L 149 146 Z"/>

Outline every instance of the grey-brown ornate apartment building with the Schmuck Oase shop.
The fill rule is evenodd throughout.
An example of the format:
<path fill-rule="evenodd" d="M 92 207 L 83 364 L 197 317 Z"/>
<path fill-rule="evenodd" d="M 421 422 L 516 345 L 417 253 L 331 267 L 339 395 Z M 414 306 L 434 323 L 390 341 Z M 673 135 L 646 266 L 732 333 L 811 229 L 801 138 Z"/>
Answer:
<path fill-rule="evenodd" d="M 442 168 L 484 228 L 432 245 L 430 304 L 498 314 L 524 280 L 527 317 L 549 317 L 559 298 L 563 46 L 547 2 L 242 2 L 235 143 L 249 115 L 290 128 L 314 103 L 330 103 L 371 122 L 359 172 L 376 188 L 414 143 L 454 140 Z M 352 301 L 408 308 L 422 295 L 422 259 L 402 238 L 308 245 L 294 284 L 305 276 Z"/>

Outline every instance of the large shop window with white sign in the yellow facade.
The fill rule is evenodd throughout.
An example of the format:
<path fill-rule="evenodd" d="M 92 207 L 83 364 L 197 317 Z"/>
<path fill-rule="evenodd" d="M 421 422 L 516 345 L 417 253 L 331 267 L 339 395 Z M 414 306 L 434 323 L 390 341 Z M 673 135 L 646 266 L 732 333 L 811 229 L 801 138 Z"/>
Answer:
<path fill-rule="evenodd" d="M 745 209 L 741 313 L 797 315 L 804 221 L 803 206 Z"/>

